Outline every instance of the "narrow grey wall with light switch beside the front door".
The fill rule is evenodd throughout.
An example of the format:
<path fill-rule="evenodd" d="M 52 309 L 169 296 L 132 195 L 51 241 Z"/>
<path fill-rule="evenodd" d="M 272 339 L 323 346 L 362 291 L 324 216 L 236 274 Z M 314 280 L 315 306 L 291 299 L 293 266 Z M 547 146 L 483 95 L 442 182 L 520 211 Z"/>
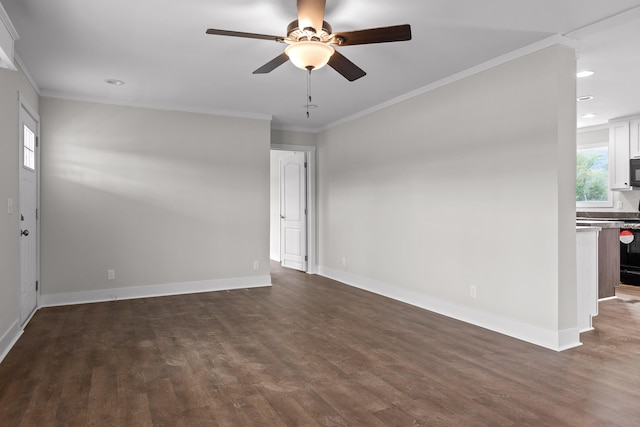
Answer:
<path fill-rule="evenodd" d="M 19 323 L 18 92 L 38 111 L 38 94 L 22 71 L 0 68 L 0 360 Z M 7 213 L 13 199 L 14 213 Z"/>

